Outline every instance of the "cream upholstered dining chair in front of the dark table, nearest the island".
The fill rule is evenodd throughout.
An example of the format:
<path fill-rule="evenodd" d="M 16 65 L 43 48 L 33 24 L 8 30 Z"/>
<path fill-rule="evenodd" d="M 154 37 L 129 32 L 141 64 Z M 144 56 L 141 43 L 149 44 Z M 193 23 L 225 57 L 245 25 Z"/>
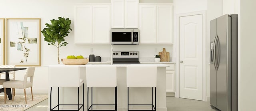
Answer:
<path fill-rule="evenodd" d="M 5 81 L 3 83 L 3 87 L 4 87 L 4 103 L 6 103 L 6 88 L 12 88 L 12 93 L 13 93 L 13 89 L 14 88 L 24 89 L 25 102 L 27 103 L 26 88 L 30 87 L 31 95 L 32 95 L 32 100 L 33 100 L 32 85 L 33 85 L 33 79 L 34 79 L 34 72 L 35 72 L 35 67 L 27 67 L 23 81 L 12 80 L 12 81 Z M 28 81 L 28 77 L 30 77 L 29 81 Z M 12 101 L 13 100 L 14 100 L 14 96 L 12 95 Z"/>

